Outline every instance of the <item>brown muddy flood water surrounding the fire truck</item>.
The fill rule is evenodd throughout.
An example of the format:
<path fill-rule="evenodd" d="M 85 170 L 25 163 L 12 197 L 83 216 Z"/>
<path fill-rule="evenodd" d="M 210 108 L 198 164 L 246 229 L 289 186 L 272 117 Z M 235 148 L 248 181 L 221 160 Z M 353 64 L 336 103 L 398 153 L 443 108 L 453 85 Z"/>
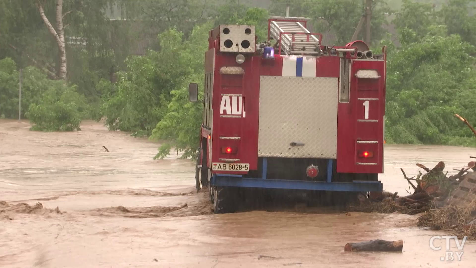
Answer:
<path fill-rule="evenodd" d="M 444 231 L 417 216 L 320 211 L 213 215 L 195 191 L 195 167 L 158 144 L 91 121 L 72 133 L 29 131 L 0 120 L 0 267 L 476 267 L 441 261 Z M 105 152 L 102 146 L 109 152 Z M 385 147 L 384 189 L 404 195 L 416 163 L 461 168 L 474 148 Z M 3 200 L 3 201 L 2 201 Z M 40 204 L 38 204 L 40 203 Z M 399 253 L 344 252 L 347 242 L 404 240 Z M 458 250 L 455 243 L 451 250 Z"/>

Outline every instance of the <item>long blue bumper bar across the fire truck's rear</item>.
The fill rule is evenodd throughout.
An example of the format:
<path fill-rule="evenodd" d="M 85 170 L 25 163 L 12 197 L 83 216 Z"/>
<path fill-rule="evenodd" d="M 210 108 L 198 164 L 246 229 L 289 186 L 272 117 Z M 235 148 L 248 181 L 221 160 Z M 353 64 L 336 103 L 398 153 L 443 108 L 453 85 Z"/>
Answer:
<path fill-rule="evenodd" d="M 344 192 L 370 192 L 382 191 L 380 181 L 353 181 L 353 182 L 314 182 L 294 180 L 274 180 L 243 178 L 240 175 L 220 175 L 211 177 L 211 185 L 236 186 L 252 188 L 296 189 L 296 190 L 321 190 Z"/>

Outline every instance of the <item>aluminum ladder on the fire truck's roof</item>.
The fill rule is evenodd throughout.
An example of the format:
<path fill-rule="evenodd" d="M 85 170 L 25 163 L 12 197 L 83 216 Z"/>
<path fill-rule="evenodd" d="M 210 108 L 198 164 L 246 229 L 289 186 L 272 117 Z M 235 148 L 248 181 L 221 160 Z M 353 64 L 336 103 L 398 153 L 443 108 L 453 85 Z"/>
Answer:
<path fill-rule="evenodd" d="M 281 51 L 285 54 L 318 54 L 319 39 L 311 34 L 303 23 L 306 18 L 272 17 L 269 20 L 269 35 L 279 42 Z"/>

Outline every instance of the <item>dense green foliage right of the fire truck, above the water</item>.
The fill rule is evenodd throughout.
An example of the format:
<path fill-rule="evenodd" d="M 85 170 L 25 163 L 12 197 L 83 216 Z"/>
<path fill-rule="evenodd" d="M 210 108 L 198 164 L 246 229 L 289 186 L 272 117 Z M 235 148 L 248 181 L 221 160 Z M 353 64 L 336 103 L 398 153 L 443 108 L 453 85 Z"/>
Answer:
<path fill-rule="evenodd" d="M 404 1 L 396 18 L 402 46 L 387 58 L 386 135 L 390 143 L 476 146 L 454 116 L 476 122 L 476 48 L 434 16 L 431 6 Z"/>

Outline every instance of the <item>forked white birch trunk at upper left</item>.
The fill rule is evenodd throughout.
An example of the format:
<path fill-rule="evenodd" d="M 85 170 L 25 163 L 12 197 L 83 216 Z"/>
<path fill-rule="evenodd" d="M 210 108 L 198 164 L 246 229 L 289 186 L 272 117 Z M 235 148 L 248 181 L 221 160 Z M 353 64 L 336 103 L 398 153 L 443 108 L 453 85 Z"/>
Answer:
<path fill-rule="evenodd" d="M 56 1 L 56 30 L 51 25 L 50 21 L 45 15 L 45 10 L 43 9 L 43 5 L 41 4 L 40 0 L 36 0 L 36 7 L 40 12 L 41 19 L 45 23 L 48 31 L 50 31 L 51 35 L 56 41 L 60 51 L 60 70 L 58 73 L 58 77 L 66 81 L 66 74 L 67 74 L 67 60 L 66 60 L 66 45 L 64 39 L 64 27 L 63 27 L 63 0 Z"/>

